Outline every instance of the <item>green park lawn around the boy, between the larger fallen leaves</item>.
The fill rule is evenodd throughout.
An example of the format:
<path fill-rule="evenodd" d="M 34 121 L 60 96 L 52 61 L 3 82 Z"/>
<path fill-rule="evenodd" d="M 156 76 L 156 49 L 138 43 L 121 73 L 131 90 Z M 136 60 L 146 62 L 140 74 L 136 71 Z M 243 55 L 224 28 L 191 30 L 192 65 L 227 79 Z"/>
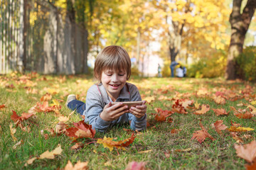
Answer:
<path fill-rule="evenodd" d="M 245 169 L 244 159 L 237 156 L 234 145 L 245 145 L 255 140 L 255 116 L 250 119 L 237 118 L 233 106 L 237 110 L 245 109 L 246 105 L 256 101 L 255 84 L 244 81 L 224 81 L 223 79 L 190 79 L 190 78 L 133 78 L 129 82 L 136 84 L 142 98 L 149 101 L 147 104 L 147 122 L 149 126 L 144 132 L 137 135 L 131 145 L 123 149 L 114 148 L 112 151 L 97 139 L 112 137 L 114 140 L 125 140 L 132 136 L 127 130 L 129 125 L 115 126 L 106 133 L 96 132 L 93 139 L 78 139 L 85 146 L 82 149 L 71 149 L 75 142 L 67 135 L 50 135 L 46 140 L 41 131 L 55 128 L 59 122 L 54 112 L 36 113 L 31 118 L 23 120 L 24 127 L 29 126 L 29 132 L 16 127 L 11 120 L 13 111 L 17 115 L 28 113 L 28 110 L 42 103 L 41 97 L 46 93 L 60 102 L 60 114 L 68 116 L 71 111 L 65 107 L 68 94 L 77 94 L 85 101 L 87 89 L 95 83 L 90 76 L 43 76 L 39 74 L 16 73 L 0 76 L 0 169 L 64 169 L 68 160 L 74 164 L 78 161 L 88 162 L 89 169 L 125 169 L 129 162 L 145 162 L 146 169 Z M 216 93 L 217 92 L 217 93 Z M 215 103 L 214 94 L 231 94 L 242 96 L 234 101 L 225 100 L 225 104 Z M 155 119 L 155 108 L 171 111 L 177 99 L 192 101 L 188 113 L 173 113 L 166 121 Z M 210 106 L 210 111 L 202 115 L 193 114 L 195 103 Z M 243 105 L 241 104 L 243 103 Z M 228 115 L 215 115 L 212 108 L 224 108 L 230 111 Z M 168 120 L 173 119 L 169 122 Z M 82 118 L 78 114 L 70 116 L 67 124 L 78 122 Z M 238 132 L 235 138 L 226 129 L 218 134 L 212 124 L 216 120 L 223 120 L 223 124 L 230 128 L 233 123 L 240 123 L 242 127 L 253 128 L 248 132 Z M 191 139 L 193 133 L 202 130 L 199 125 L 208 130 L 214 139 L 206 138 L 203 142 Z M 16 141 L 11 136 L 10 125 L 16 128 Z M 178 132 L 172 133 L 174 130 Z M 173 131 L 171 131 L 173 130 Z M 14 149 L 17 142 L 21 145 Z M 39 157 L 43 152 L 53 151 L 60 144 L 63 151 L 55 155 L 54 159 L 36 159 L 32 164 L 25 166 L 28 159 Z"/>

